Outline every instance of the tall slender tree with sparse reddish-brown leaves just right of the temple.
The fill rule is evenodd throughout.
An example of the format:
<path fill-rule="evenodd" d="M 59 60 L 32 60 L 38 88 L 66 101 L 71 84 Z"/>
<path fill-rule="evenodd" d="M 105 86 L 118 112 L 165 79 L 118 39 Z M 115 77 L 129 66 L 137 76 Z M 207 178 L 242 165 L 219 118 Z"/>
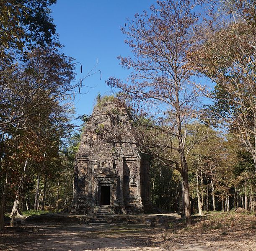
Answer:
<path fill-rule="evenodd" d="M 136 14 L 122 28 L 134 56 L 119 57 L 122 66 L 133 71 L 127 81 L 113 77 L 106 81 L 150 118 L 138 120 L 141 128 L 137 127 L 135 138 L 142 148 L 181 173 L 187 226 L 191 225 L 187 155 L 198 139 L 195 133 L 188 141 L 186 125 L 199 125 L 194 120 L 197 94 L 186 67 L 186 51 L 197 23 L 195 6 L 189 0 L 157 1 L 150 14 Z"/>

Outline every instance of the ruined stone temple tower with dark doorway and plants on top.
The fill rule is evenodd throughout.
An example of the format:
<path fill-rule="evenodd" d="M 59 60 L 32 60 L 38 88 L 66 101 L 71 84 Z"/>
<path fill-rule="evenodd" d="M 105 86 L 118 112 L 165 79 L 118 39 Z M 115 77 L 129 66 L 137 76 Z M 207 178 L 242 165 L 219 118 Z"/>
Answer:
<path fill-rule="evenodd" d="M 116 102 L 96 105 L 85 124 L 75 160 L 71 212 L 95 214 L 149 212 L 148 158 L 140 154 L 129 116 Z"/>

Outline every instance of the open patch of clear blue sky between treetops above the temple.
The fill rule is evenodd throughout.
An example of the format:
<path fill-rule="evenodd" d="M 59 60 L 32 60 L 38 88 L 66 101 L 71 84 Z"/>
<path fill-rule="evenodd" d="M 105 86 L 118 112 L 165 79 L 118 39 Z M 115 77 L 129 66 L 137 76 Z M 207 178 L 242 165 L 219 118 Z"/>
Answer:
<path fill-rule="evenodd" d="M 57 26 L 59 40 L 65 47 L 66 55 L 75 58 L 83 65 L 83 73 L 77 68 L 77 79 L 84 77 L 96 65 L 97 73 L 85 79 L 85 85 L 97 86 L 94 89 L 83 87 L 84 95 L 75 98 L 75 116 L 91 114 L 98 92 L 110 94 L 105 84 L 108 77 L 126 78 L 129 72 L 119 65 L 117 56 L 129 55 L 129 47 L 124 44 L 125 35 L 121 26 L 135 13 L 148 10 L 154 0 L 58 0 L 51 7 L 52 18 Z"/>

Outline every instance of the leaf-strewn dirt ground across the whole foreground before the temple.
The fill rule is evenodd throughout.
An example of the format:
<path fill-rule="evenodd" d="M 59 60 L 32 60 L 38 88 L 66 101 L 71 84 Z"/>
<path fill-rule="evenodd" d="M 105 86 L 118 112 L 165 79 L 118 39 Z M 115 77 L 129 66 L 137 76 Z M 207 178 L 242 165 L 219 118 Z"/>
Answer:
<path fill-rule="evenodd" d="M 0 233 L 3 251 L 255 251 L 256 217 L 216 214 L 195 217 L 191 228 L 173 219 L 167 230 L 157 223 L 137 225 L 39 225 L 36 233 Z M 165 224 L 166 226 L 166 224 Z"/>

